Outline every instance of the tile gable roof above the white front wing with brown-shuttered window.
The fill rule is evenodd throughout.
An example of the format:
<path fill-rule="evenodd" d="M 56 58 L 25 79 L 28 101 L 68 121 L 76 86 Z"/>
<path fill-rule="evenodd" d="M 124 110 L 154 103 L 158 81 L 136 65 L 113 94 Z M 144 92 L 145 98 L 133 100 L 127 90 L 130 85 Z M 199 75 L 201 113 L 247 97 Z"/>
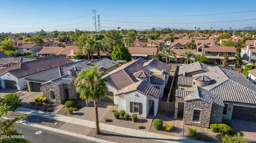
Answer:
<path fill-rule="evenodd" d="M 160 95 L 160 90 L 155 88 L 155 85 L 153 85 L 145 80 L 135 82 L 132 85 L 119 90 L 116 95 L 126 94 L 126 93 L 129 93 L 132 91 L 138 91 L 145 96 L 151 95 L 156 98 L 158 98 Z"/>

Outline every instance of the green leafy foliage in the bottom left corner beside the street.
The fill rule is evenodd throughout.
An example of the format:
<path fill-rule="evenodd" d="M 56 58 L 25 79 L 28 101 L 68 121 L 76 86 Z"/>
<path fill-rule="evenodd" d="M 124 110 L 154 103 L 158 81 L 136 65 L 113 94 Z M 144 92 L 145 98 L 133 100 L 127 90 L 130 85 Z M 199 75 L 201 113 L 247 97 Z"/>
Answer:
<path fill-rule="evenodd" d="M 0 105 L 0 136 L 22 136 L 23 134 L 15 129 L 14 123 L 22 120 L 25 115 L 15 117 L 15 119 L 3 119 L 4 115 L 7 114 L 7 111 L 10 111 L 9 106 L 6 104 Z M 13 143 L 29 143 L 28 140 L 22 138 L 1 138 L 3 143 L 13 142 Z"/>

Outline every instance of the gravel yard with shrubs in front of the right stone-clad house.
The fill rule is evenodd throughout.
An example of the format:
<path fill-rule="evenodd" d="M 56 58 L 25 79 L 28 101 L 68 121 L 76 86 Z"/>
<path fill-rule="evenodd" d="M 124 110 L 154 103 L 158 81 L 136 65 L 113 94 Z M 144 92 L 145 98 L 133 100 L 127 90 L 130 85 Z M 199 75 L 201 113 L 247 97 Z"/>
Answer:
<path fill-rule="evenodd" d="M 161 130 L 157 131 L 154 128 L 154 125 L 153 125 L 153 122 L 152 122 L 151 126 L 150 126 L 150 129 L 149 129 L 150 132 L 165 134 L 165 135 L 168 135 L 168 136 L 182 137 L 183 121 L 181 119 L 175 120 L 174 119 L 174 114 L 158 111 L 157 116 L 155 116 L 154 119 L 161 119 L 163 121 L 163 128 Z M 174 128 L 170 132 L 165 131 L 166 123 L 171 123 L 174 126 Z M 204 133 L 204 134 L 207 134 L 207 135 L 211 136 L 212 137 L 211 142 L 220 142 L 220 140 L 218 140 L 215 137 L 216 133 L 212 132 L 210 129 L 203 128 L 203 127 L 196 127 L 196 126 L 186 125 L 186 124 L 184 125 L 184 137 L 189 138 L 188 137 L 188 128 L 189 127 L 195 127 L 197 129 L 198 133 Z"/>

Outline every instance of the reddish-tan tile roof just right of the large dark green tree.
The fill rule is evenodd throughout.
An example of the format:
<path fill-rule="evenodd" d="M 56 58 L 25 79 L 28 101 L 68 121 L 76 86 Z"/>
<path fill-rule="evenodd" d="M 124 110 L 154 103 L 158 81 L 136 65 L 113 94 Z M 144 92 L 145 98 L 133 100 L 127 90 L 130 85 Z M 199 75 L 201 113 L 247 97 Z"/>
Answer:
<path fill-rule="evenodd" d="M 157 47 L 129 47 L 129 52 L 132 55 L 154 55 L 158 54 Z"/>

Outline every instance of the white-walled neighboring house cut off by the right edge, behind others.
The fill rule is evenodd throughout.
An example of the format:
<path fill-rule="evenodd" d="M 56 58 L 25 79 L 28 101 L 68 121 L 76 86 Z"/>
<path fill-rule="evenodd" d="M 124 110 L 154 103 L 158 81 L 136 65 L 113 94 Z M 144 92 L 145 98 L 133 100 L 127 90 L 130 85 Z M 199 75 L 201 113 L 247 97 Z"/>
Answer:
<path fill-rule="evenodd" d="M 241 57 L 249 63 L 256 63 L 256 46 L 247 45 L 241 49 Z"/>

